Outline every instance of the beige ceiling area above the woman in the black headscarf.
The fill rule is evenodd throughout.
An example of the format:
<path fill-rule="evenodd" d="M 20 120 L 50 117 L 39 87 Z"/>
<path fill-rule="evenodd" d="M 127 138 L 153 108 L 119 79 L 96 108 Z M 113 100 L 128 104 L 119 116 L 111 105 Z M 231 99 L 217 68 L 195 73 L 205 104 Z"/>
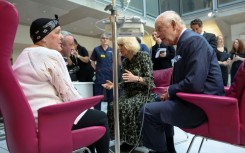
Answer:
<path fill-rule="evenodd" d="M 9 0 L 9 2 L 18 9 L 19 22 L 22 25 L 30 26 L 37 18 L 54 18 L 57 14 L 62 29 L 90 37 L 98 37 L 103 33 L 96 28 L 102 26 L 103 29 L 103 24 L 96 22 L 110 15 L 110 12 L 98 11 L 67 0 Z"/>

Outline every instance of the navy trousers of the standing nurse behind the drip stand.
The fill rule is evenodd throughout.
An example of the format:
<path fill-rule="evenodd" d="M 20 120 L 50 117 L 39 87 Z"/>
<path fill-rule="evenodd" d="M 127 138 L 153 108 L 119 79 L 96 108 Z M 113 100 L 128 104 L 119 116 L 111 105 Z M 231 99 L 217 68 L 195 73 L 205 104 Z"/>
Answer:
<path fill-rule="evenodd" d="M 113 90 L 107 90 L 104 87 L 102 87 L 101 84 L 94 84 L 94 96 L 96 95 L 104 95 L 103 101 L 109 103 L 113 100 Z M 99 102 L 97 105 L 94 106 L 95 109 L 101 110 L 101 102 Z"/>

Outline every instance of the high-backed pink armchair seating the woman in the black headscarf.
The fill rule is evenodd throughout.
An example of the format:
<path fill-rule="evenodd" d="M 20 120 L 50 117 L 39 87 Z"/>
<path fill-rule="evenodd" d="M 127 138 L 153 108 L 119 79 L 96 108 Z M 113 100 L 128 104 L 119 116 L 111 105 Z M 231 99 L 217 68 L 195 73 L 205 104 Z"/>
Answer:
<path fill-rule="evenodd" d="M 71 153 L 88 146 L 104 133 L 102 126 L 72 131 L 76 117 L 103 98 L 94 96 L 38 110 L 38 127 L 23 91 L 16 80 L 10 57 L 18 26 L 16 8 L 0 0 L 0 108 L 6 142 L 11 153 Z"/>

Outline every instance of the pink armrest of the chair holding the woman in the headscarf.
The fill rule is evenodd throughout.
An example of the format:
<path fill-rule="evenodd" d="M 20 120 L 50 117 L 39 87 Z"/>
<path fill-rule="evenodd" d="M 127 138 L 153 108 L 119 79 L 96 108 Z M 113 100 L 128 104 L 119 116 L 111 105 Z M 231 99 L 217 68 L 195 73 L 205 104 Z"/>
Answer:
<path fill-rule="evenodd" d="M 66 146 L 64 148 L 68 149 L 62 150 L 62 152 L 71 152 L 73 139 L 71 129 L 76 117 L 84 110 L 99 103 L 103 97 L 100 95 L 82 98 L 39 109 L 39 144 L 43 145 L 40 148 L 44 149 L 41 152 L 57 152 L 57 150 L 50 150 L 50 148 L 60 148 L 60 146 Z"/>

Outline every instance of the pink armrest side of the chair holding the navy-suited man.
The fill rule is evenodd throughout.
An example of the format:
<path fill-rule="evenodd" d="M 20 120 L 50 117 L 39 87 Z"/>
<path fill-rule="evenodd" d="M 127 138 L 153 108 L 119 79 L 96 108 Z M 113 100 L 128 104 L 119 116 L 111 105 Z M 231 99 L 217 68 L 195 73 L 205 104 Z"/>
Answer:
<path fill-rule="evenodd" d="M 206 113 L 209 133 L 216 135 L 216 137 L 219 137 L 220 133 L 226 133 L 227 137 L 239 136 L 238 132 L 234 134 L 234 131 L 239 131 L 240 126 L 236 98 L 182 92 L 177 93 L 177 96 L 200 107 Z"/>

